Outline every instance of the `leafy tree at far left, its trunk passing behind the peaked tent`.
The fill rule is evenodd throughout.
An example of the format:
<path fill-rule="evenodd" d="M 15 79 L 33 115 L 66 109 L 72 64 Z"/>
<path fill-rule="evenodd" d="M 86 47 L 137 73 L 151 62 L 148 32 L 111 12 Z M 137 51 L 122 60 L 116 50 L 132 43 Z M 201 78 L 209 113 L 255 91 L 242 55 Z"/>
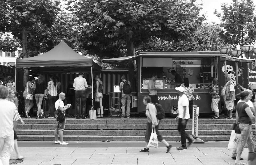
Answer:
<path fill-rule="evenodd" d="M 35 29 L 49 28 L 58 14 L 58 1 L 51 0 L 3 0 L 1 2 L 0 29 L 12 32 L 15 37 L 22 34 L 23 58 L 27 58 L 27 33 Z M 37 33 L 38 40 L 41 34 Z M 28 80 L 28 70 L 24 70 L 24 88 Z"/>

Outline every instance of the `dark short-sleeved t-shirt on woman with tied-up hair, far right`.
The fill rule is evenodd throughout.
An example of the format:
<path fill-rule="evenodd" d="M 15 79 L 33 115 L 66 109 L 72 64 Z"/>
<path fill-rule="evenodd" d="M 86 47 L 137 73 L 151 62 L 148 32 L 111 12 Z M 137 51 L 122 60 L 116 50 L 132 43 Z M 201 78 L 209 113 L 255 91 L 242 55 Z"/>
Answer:
<path fill-rule="evenodd" d="M 239 123 L 241 124 L 252 124 L 252 120 L 251 118 L 247 115 L 245 108 L 249 107 L 248 104 L 244 103 L 244 102 L 240 102 L 237 104 L 237 113 L 238 113 L 238 117 L 239 117 Z"/>

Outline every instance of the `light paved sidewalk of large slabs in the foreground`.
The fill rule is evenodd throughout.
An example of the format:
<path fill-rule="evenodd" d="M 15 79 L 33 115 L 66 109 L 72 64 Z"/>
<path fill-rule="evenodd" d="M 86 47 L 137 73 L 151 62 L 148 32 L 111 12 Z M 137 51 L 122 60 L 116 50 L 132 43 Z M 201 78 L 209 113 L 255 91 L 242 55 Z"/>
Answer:
<path fill-rule="evenodd" d="M 135 145 L 136 143 L 134 142 Z M 139 150 L 143 147 L 134 147 L 133 145 L 131 147 L 106 147 L 108 143 L 105 145 L 102 143 L 102 147 L 67 147 L 58 144 L 53 147 L 41 147 L 41 145 L 38 145 L 39 147 L 19 147 L 22 155 L 26 156 L 26 159 L 19 165 L 233 165 L 235 162 L 231 159 L 232 149 L 224 147 L 226 145 L 223 147 L 201 147 L 209 146 L 209 144 L 194 144 L 187 150 L 176 150 L 181 142 L 170 143 L 175 146 L 171 148 L 170 153 L 165 153 L 166 147 L 163 147 L 162 144 L 158 149 L 150 148 L 149 153 L 140 153 Z M 218 142 L 215 143 L 218 144 Z M 138 146 L 142 144 L 138 142 Z M 112 143 L 111 146 L 113 145 L 115 144 Z M 214 143 L 212 145 L 214 146 Z M 247 163 L 247 156 L 248 149 L 245 148 L 242 153 L 242 157 L 245 159 L 244 163 Z M 11 159 L 15 158 L 16 155 L 13 152 Z"/>

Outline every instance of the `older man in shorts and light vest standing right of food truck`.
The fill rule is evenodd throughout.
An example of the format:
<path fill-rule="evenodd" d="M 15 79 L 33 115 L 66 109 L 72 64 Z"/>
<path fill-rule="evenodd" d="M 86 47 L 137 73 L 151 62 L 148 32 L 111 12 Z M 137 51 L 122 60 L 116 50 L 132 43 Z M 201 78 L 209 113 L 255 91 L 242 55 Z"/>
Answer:
<path fill-rule="evenodd" d="M 232 82 L 230 75 L 228 75 L 225 79 L 226 79 L 226 84 L 222 90 L 222 95 L 224 96 L 224 103 L 228 110 L 228 116 L 225 117 L 225 119 L 233 119 L 232 111 L 234 108 L 234 101 L 235 101 L 235 86 Z"/>

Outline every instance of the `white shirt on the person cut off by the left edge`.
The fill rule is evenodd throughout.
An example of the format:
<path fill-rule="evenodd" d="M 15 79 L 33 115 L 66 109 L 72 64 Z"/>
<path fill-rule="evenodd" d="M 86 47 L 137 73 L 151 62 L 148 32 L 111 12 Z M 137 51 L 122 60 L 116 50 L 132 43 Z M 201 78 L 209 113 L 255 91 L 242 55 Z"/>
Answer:
<path fill-rule="evenodd" d="M 0 138 L 6 138 L 13 134 L 13 122 L 20 116 L 13 102 L 0 100 L 0 105 Z"/>

